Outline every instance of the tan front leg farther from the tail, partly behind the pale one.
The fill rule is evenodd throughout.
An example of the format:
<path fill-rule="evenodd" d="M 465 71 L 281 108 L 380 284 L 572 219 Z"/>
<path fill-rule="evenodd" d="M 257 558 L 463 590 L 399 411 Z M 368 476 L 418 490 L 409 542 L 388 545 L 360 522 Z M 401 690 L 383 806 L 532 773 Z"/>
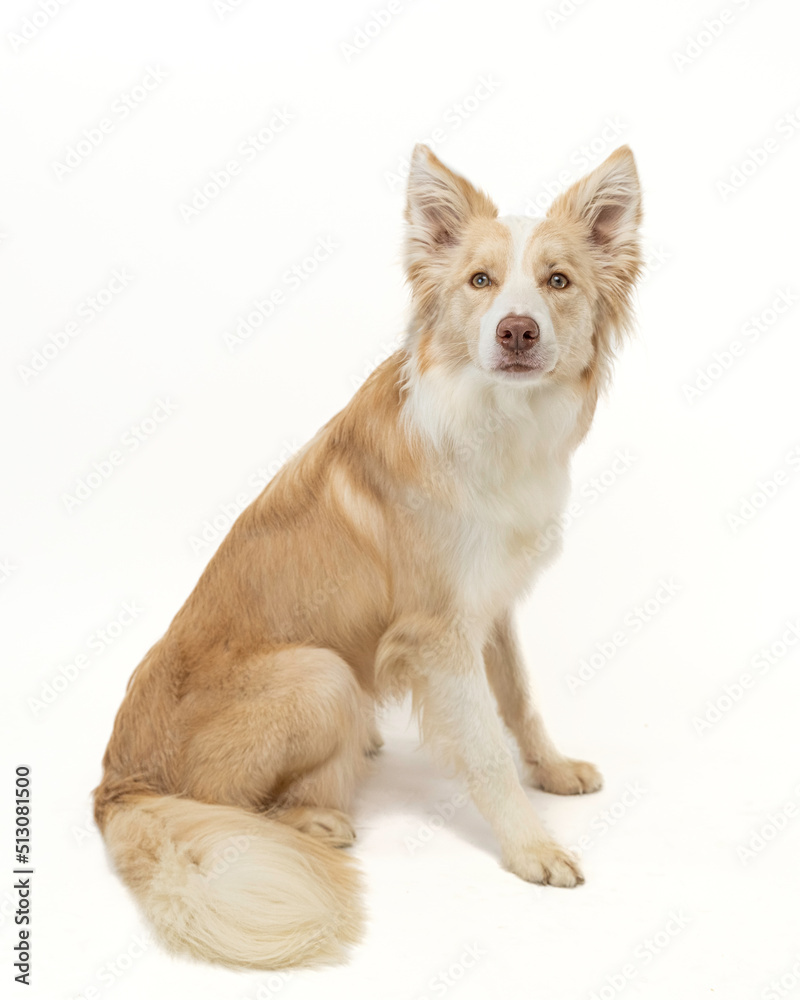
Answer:
<path fill-rule="evenodd" d="M 602 788 L 603 779 L 594 764 L 565 757 L 550 739 L 530 696 L 510 614 L 495 622 L 484 647 L 484 659 L 500 714 L 519 744 L 532 784 L 558 795 L 580 795 Z"/>

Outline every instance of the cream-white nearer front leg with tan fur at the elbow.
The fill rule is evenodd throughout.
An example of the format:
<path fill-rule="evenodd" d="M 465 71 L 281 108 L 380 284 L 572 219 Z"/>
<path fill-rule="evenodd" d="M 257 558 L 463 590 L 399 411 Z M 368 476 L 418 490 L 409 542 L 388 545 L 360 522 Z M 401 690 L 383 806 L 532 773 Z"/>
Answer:
<path fill-rule="evenodd" d="M 404 673 L 423 735 L 453 762 L 500 842 L 503 862 L 528 882 L 583 882 L 575 859 L 539 822 L 520 784 L 492 703 L 482 641 L 452 622 L 398 623 L 384 637 L 381 669 Z"/>

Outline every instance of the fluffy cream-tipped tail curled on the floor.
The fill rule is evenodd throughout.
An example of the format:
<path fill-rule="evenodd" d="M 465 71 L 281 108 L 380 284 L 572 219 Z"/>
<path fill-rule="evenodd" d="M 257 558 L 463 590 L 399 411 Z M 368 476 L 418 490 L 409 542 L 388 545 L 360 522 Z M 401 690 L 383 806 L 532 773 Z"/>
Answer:
<path fill-rule="evenodd" d="M 173 951 L 277 969 L 341 961 L 360 937 L 356 868 L 307 834 L 172 796 L 131 796 L 106 815 L 109 853 Z"/>

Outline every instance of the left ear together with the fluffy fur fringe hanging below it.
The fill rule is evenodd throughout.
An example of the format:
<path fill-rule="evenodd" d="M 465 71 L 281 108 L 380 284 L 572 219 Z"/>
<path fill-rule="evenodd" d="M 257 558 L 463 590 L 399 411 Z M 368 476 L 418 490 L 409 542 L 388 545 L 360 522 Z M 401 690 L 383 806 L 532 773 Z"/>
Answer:
<path fill-rule="evenodd" d="M 405 265 L 418 314 L 435 314 L 441 268 L 469 222 L 496 216 L 497 207 L 487 195 L 446 167 L 427 146 L 414 147 L 405 212 Z"/>

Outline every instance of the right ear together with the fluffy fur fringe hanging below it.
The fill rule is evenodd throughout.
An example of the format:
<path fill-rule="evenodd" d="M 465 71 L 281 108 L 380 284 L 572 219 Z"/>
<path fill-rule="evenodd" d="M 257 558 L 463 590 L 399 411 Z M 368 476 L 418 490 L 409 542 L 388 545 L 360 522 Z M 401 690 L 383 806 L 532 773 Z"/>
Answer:
<path fill-rule="evenodd" d="M 631 294 L 642 269 L 641 189 L 629 146 L 620 146 L 556 198 L 547 213 L 558 226 L 578 227 L 597 270 L 601 322 L 598 346 L 631 325 Z"/>

